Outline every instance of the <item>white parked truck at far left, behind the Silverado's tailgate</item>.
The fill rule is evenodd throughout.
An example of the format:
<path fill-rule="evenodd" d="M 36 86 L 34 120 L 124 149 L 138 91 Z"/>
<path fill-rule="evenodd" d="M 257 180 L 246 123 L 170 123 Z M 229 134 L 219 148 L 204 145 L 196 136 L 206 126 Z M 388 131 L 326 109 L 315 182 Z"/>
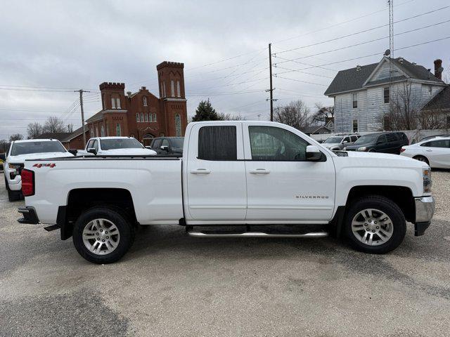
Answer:
<path fill-rule="evenodd" d="M 15 201 L 22 197 L 20 172 L 26 159 L 73 157 L 73 154 L 65 150 L 63 144 L 55 139 L 15 140 L 11 143 L 8 152 L 3 155 L 6 157 L 4 173 L 9 201 Z"/>

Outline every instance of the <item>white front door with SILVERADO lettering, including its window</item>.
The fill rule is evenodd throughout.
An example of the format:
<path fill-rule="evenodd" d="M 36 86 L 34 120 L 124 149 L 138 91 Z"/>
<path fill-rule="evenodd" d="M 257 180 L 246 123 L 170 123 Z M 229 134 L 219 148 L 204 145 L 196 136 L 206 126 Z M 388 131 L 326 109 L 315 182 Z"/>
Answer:
<path fill-rule="evenodd" d="M 308 161 L 308 138 L 282 124 L 243 124 L 247 218 L 261 223 L 326 222 L 335 201 L 335 167 L 328 152 Z M 315 144 L 314 144 L 315 145 Z"/>

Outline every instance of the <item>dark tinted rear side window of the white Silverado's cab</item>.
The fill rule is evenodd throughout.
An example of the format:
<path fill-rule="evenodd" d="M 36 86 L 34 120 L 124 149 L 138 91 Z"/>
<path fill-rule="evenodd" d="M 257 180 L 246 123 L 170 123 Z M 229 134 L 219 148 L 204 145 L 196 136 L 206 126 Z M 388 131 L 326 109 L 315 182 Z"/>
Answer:
<path fill-rule="evenodd" d="M 198 159 L 236 160 L 236 126 L 203 126 L 198 131 Z"/>

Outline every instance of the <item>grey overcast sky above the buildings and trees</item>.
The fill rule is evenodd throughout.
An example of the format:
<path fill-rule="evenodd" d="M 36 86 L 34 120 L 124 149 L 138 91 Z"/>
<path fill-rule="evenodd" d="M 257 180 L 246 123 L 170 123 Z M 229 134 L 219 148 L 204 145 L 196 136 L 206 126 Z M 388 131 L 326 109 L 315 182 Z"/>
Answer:
<path fill-rule="evenodd" d="M 449 5 L 394 0 L 394 21 Z M 158 95 L 155 67 L 164 60 L 184 62 L 188 115 L 210 98 L 218 112 L 266 119 L 269 42 L 276 53 L 274 73 L 285 72 L 274 78 L 275 104 L 301 99 L 311 109 L 315 103 L 332 105 L 323 92 L 336 72 L 378 62 L 389 48 L 389 39 L 380 39 L 389 36 L 388 27 L 338 39 L 387 25 L 386 0 L 2 1 L 1 7 L 0 139 L 25 135 L 28 123 L 51 115 L 81 126 L 79 108 L 72 109 L 76 88 L 91 90 L 86 118 L 101 110 L 97 91 L 103 81 L 124 82 L 125 91 L 147 86 Z M 444 22 L 449 18 L 450 8 L 443 8 L 398 22 L 394 48 L 450 37 L 450 22 Z M 423 28 L 429 25 L 434 26 Z M 374 39 L 380 40 L 362 44 Z M 354 44 L 361 45 L 343 48 Z M 449 52 L 446 39 L 394 56 L 427 68 L 442 58 L 447 69 Z"/>

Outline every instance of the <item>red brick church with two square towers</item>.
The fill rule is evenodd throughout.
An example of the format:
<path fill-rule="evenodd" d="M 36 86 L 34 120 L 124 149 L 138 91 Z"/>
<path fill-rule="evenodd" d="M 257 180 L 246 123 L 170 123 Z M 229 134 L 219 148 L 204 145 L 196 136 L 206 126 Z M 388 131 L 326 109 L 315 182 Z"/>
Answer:
<path fill-rule="evenodd" d="M 150 145 L 154 137 L 184 136 L 188 123 L 184 64 L 165 61 L 156 69 L 159 97 L 145 86 L 136 93 L 128 91 L 125 95 L 124 83 L 100 84 L 102 110 L 86 120 L 86 138 L 131 136 L 144 145 Z M 81 128 L 79 131 L 81 135 Z"/>

